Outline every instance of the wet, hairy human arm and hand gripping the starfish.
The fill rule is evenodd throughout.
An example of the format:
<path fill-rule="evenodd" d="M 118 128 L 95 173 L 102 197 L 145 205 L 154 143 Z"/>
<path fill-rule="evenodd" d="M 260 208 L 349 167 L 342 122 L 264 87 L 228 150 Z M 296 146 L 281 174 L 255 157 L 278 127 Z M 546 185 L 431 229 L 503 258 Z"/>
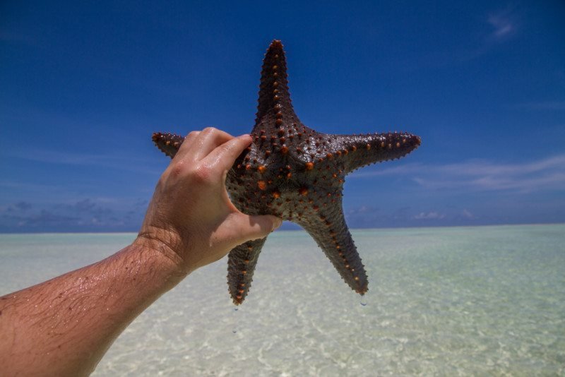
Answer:
<path fill-rule="evenodd" d="M 190 271 L 280 225 L 230 202 L 225 176 L 249 135 L 191 132 L 162 174 L 138 239 L 104 261 L 0 297 L 0 376 L 81 376 Z"/>

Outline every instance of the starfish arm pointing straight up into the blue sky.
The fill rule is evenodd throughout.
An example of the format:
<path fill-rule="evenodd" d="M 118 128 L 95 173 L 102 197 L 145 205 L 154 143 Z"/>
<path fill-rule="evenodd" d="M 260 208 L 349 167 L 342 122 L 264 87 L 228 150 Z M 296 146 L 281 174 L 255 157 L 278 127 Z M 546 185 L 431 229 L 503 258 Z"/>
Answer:
<path fill-rule="evenodd" d="M 271 42 L 261 69 L 261 82 L 259 84 L 259 99 L 255 124 L 258 126 L 261 120 L 268 114 L 279 111 L 287 112 L 285 118 L 294 115 L 288 91 L 287 61 L 283 44 L 279 40 Z"/>

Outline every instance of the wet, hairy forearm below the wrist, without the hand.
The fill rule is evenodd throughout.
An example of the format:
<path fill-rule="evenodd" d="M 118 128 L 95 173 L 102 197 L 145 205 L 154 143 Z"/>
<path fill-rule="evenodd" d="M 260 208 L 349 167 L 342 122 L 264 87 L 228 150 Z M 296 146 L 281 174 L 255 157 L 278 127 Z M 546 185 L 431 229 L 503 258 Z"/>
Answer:
<path fill-rule="evenodd" d="M 138 242 L 103 261 L 0 297 L 0 375 L 80 376 L 184 273 Z"/>

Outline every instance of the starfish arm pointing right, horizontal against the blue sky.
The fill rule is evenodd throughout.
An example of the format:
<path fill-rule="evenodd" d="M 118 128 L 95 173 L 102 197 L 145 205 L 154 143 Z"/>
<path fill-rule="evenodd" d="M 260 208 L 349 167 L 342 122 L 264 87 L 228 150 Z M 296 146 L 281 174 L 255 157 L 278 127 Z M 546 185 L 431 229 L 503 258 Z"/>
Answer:
<path fill-rule="evenodd" d="M 345 174 L 368 164 L 404 157 L 421 143 L 420 136 L 404 132 L 327 137 L 326 152 L 343 161 Z"/>

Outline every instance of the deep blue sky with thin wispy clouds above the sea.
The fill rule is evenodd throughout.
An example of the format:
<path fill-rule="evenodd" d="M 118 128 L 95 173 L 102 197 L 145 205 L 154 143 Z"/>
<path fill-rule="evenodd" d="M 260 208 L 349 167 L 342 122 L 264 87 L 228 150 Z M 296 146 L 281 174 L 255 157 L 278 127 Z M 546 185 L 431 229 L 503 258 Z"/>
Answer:
<path fill-rule="evenodd" d="M 237 5 L 236 5 L 237 4 Z M 251 131 L 285 44 L 326 133 L 410 131 L 347 177 L 352 227 L 565 221 L 562 1 L 2 1 L 0 232 L 136 231 L 153 131 Z"/>

